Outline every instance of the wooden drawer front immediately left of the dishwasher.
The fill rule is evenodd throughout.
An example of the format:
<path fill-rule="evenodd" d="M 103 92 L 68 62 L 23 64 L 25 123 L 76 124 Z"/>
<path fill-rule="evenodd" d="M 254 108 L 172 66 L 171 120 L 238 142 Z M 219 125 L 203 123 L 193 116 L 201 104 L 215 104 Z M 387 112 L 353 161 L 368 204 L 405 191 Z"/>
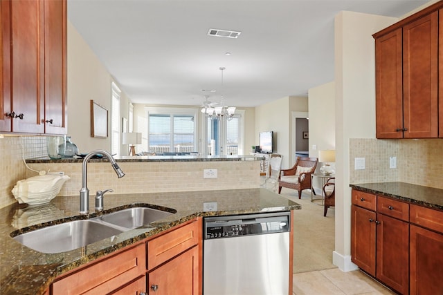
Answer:
<path fill-rule="evenodd" d="M 195 221 L 148 241 L 147 269 L 153 269 L 197 245 L 199 243 L 199 231 L 201 231 L 201 222 Z"/>

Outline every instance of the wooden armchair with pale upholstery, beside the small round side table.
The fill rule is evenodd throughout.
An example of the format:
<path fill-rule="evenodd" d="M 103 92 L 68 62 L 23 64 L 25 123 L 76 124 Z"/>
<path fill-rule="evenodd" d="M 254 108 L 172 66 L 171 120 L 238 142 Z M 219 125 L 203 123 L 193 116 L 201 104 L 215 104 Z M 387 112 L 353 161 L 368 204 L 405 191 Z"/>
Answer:
<path fill-rule="evenodd" d="M 304 189 L 311 189 L 311 174 L 316 171 L 317 158 L 297 157 L 296 164 L 291 169 L 282 169 L 278 181 L 278 193 L 282 187 L 298 191 L 298 198 L 302 198 Z"/>

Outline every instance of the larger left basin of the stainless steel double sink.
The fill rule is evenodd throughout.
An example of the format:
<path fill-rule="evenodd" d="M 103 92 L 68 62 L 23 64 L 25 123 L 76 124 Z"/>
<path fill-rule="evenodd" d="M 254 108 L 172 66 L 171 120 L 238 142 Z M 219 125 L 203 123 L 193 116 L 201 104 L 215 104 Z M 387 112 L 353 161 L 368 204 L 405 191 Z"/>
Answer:
<path fill-rule="evenodd" d="M 123 231 L 93 220 L 74 220 L 29 231 L 14 240 L 47 254 L 71 251 L 104 240 Z"/>

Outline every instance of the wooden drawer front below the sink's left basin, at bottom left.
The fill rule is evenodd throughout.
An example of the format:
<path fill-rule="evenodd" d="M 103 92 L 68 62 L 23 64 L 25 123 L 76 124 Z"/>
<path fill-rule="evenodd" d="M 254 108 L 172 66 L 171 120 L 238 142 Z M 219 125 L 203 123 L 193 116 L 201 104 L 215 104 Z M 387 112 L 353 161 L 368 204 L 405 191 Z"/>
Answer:
<path fill-rule="evenodd" d="M 145 272 L 145 244 L 141 244 L 58 280 L 53 294 L 108 294 Z"/>

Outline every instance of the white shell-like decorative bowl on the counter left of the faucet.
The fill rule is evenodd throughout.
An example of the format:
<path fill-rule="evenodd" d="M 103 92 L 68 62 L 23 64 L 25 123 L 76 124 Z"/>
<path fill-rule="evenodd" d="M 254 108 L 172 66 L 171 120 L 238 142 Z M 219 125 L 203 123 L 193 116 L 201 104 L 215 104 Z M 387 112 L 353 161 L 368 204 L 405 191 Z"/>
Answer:
<path fill-rule="evenodd" d="M 68 175 L 37 175 L 17 181 L 12 194 L 20 204 L 44 204 L 55 198 L 69 179 Z"/>

